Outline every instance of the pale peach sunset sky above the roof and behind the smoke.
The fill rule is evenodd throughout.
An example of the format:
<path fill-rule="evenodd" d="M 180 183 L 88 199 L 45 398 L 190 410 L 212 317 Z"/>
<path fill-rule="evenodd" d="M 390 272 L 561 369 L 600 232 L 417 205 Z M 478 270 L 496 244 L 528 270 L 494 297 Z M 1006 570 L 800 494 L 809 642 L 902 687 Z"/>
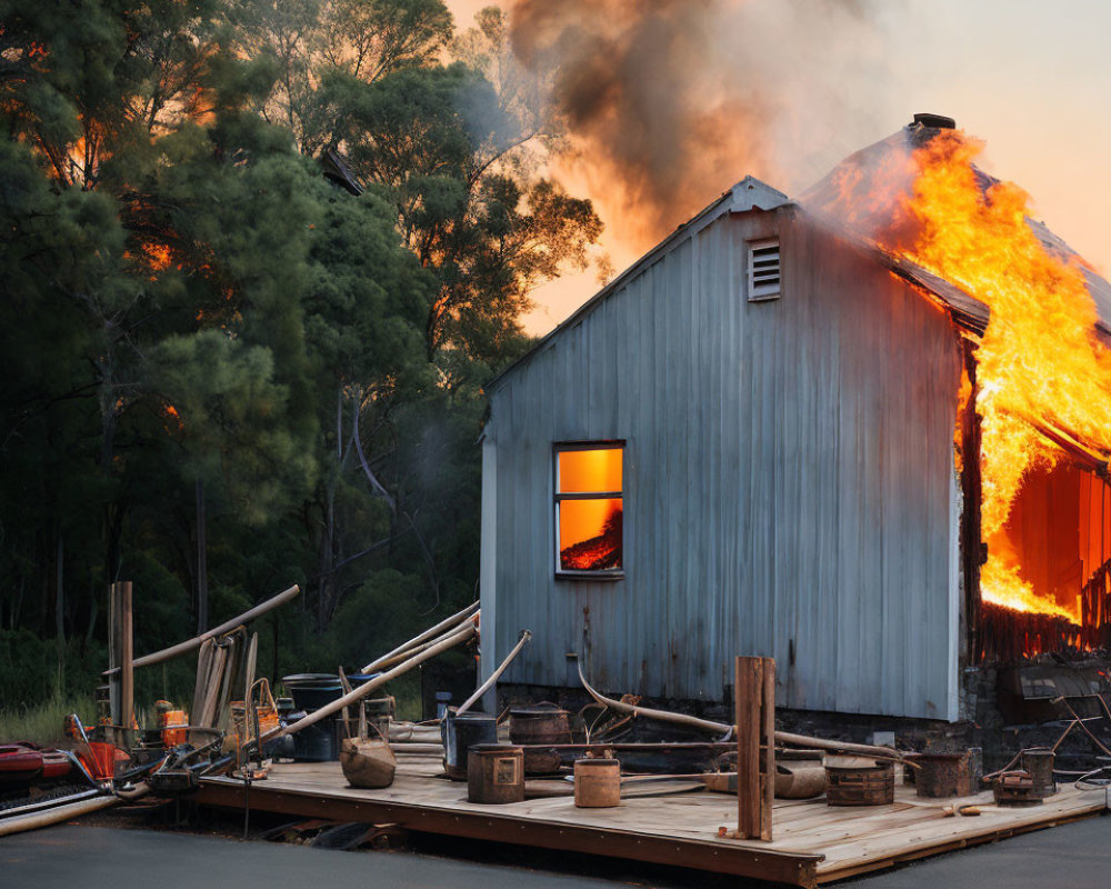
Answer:
<path fill-rule="evenodd" d="M 747 0 L 757 8 L 780 1 Z M 476 0 L 447 2 L 461 27 L 488 6 Z M 855 73 L 843 77 L 837 68 L 825 67 L 800 80 L 800 94 L 805 93 L 805 77 L 821 78 L 815 87 L 827 93 L 837 91 L 843 129 L 800 144 L 808 137 L 807 112 L 784 109 L 785 118 L 792 112 L 802 118 L 784 128 L 784 153 L 798 154 L 804 162 L 789 164 L 790 172 L 783 173 L 793 181 L 769 184 L 798 194 L 845 154 L 908 123 L 915 111 L 949 114 L 959 127 L 987 140 L 984 166 L 990 172 L 1021 184 L 1033 196 L 1039 218 L 1097 268 L 1111 272 L 1111 117 L 1107 113 L 1111 53 L 1105 49 L 1111 3 L 864 0 L 863 7 L 872 22 L 867 46 L 837 46 L 831 51 L 852 62 L 865 60 L 868 82 L 860 81 L 859 66 Z M 778 34 L 778 49 L 790 58 L 790 23 Z M 737 52 L 743 51 L 743 46 L 737 47 Z M 721 183 L 708 183 L 701 204 L 748 172 L 752 170 L 745 159 L 738 158 L 735 170 L 727 171 Z M 591 197 L 581 184 L 568 186 Z M 674 224 L 683 221 L 677 218 Z M 603 247 L 617 271 L 651 247 L 622 238 L 620 219 L 603 213 Z M 534 294 L 537 310 L 526 319 L 528 330 L 547 332 L 597 289 L 593 272 L 541 288 Z"/>

